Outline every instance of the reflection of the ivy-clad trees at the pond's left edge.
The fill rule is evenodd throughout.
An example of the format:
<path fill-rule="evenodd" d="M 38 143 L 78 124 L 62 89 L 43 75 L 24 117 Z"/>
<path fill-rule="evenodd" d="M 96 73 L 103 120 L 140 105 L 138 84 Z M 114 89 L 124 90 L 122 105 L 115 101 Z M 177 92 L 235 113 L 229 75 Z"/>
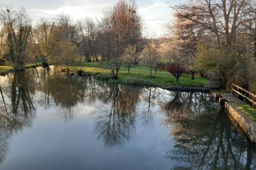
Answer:
<path fill-rule="evenodd" d="M 30 127 L 35 117 L 33 81 L 29 74 L 16 72 L 9 74 L 6 81 L 1 82 L 3 105 L 0 106 L 0 162 L 3 162 L 8 152 L 12 134 Z M 5 83 L 10 86 L 5 87 Z"/>

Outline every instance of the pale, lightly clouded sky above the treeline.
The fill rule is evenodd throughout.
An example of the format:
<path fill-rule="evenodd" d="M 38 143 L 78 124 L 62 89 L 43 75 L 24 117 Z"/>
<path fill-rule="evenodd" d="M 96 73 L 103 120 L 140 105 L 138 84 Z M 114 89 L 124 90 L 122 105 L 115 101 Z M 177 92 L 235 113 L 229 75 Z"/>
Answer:
<path fill-rule="evenodd" d="M 139 14 L 144 26 L 150 28 L 156 37 L 164 35 L 163 24 L 172 19 L 168 3 L 179 4 L 184 0 L 137 0 Z M 32 19 L 32 24 L 40 18 L 50 19 L 59 13 L 67 13 L 74 20 L 91 17 L 95 21 L 102 17 L 106 8 L 112 7 L 118 0 L 0 0 L 0 4 L 24 7 Z"/>

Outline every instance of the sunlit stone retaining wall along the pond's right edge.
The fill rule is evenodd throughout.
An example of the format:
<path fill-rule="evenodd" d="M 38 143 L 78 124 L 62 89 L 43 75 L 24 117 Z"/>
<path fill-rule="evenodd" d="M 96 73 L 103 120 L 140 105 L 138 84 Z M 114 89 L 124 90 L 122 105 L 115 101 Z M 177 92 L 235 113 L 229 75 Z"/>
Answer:
<path fill-rule="evenodd" d="M 225 108 L 247 134 L 247 137 L 256 144 L 256 123 L 250 120 L 248 115 L 242 113 L 234 103 L 226 102 Z"/>

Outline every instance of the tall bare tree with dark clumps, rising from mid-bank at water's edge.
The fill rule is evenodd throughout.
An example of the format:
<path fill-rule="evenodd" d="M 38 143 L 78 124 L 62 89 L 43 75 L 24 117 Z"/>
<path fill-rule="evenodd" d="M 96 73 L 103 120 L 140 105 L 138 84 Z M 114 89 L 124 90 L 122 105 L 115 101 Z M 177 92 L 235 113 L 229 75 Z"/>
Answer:
<path fill-rule="evenodd" d="M 104 13 L 100 22 L 104 40 L 109 44 L 112 78 L 118 79 L 122 60 L 129 45 L 136 44 L 141 37 L 140 16 L 135 1 L 120 0 Z"/>

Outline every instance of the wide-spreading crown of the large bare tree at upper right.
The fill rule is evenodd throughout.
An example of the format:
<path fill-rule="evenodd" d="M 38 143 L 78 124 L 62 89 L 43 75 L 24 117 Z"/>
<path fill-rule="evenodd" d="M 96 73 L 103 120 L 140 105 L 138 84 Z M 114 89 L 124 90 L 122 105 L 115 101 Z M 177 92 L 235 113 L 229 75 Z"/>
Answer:
<path fill-rule="evenodd" d="M 187 4 L 170 6 L 179 17 L 191 20 L 199 27 L 214 34 L 219 46 L 236 42 L 241 22 L 242 8 L 250 5 L 249 0 L 212 1 L 197 0 Z M 224 37 L 224 39 L 222 39 Z"/>

